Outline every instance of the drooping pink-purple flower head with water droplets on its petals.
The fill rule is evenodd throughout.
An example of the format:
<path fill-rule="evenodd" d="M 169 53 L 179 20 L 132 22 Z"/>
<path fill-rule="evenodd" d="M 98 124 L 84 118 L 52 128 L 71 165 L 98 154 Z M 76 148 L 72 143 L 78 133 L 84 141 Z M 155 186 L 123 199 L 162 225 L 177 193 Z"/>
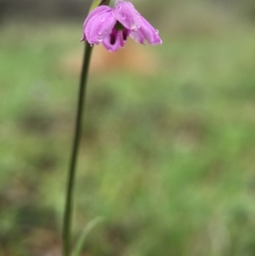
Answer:
<path fill-rule="evenodd" d="M 115 7 L 101 5 L 94 9 L 83 24 L 83 37 L 91 45 L 103 43 L 106 49 L 115 52 L 124 47 L 127 37 L 138 43 L 147 40 L 156 45 L 161 38 L 150 23 L 128 1 L 117 0 Z"/>

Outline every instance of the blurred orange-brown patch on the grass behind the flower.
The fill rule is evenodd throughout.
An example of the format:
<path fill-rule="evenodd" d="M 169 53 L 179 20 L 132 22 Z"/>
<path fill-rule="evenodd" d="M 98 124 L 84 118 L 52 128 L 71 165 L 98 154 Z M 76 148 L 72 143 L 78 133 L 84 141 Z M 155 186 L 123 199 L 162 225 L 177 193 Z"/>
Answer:
<path fill-rule="evenodd" d="M 102 45 L 95 46 L 91 60 L 92 73 L 106 73 L 114 71 L 133 71 L 145 75 L 153 74 L 158 67 L 156 54 L 149 47 L 129 40 L 125 46 L 115 53 L 108 52 Z M 75 50 L 61 60 L 60 70 L 78 75 L 82 65 L 82 51 Z"/>

